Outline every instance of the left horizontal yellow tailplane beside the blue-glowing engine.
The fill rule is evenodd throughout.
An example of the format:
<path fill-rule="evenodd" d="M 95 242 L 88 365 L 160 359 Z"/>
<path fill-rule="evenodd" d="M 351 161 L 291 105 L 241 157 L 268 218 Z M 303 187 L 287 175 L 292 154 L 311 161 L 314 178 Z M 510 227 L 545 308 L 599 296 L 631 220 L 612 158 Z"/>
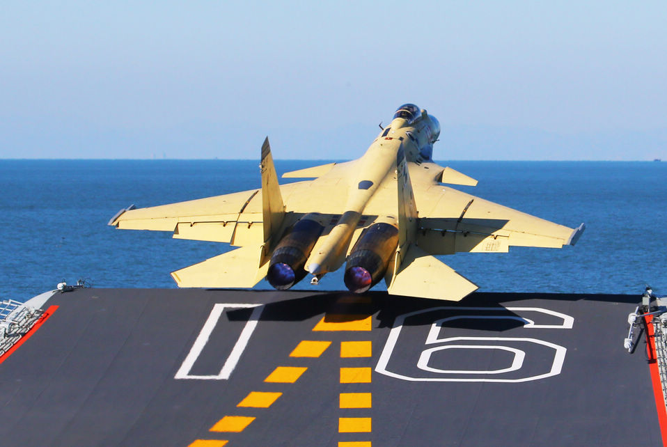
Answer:
<path fill-rule="evenodd" d="M 198 264 L 176 270 L 178 287 L 251 288 L 267 274 L 269 263 L 259 267 L 261 246 L 244 246 Z"/>

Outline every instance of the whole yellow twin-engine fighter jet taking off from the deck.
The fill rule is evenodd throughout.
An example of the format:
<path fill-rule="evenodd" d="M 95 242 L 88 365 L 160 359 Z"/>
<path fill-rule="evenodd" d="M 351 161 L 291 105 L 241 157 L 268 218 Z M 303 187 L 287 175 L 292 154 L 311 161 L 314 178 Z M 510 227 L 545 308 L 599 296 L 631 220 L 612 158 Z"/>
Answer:
<path fill-rule="evenodd" d="M 266 278 L 286 290 L 345 264 L 352 292 L 384 279 L 390 295 L 451 301 L 478 287 L 436 255 L 575 244 L 584 224 L 567 228 L 445 186 L 477 180 L 432 161 L 439 134 L 434 116 L 403 104 L 361 158 L 285 173 L 314 179 L 285 185 L 278 185 L 267 138 L 260 189 L 132 205 L 109 225 L 240 247 L 173 272 L 179 287 L 251 288 Z"/>

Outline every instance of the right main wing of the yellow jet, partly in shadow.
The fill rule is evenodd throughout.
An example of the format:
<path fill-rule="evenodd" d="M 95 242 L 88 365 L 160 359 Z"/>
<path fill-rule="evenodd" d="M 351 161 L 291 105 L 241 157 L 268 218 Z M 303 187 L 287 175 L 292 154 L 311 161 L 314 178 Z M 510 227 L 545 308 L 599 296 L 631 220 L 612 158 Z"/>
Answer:
<path fill-rule="evenodd" d="M 416 189 L 418 245 L 430 254 L 505 253 L 509 246 L 574 245 L 585 226 L 569 228 L 449 187 Z"/>

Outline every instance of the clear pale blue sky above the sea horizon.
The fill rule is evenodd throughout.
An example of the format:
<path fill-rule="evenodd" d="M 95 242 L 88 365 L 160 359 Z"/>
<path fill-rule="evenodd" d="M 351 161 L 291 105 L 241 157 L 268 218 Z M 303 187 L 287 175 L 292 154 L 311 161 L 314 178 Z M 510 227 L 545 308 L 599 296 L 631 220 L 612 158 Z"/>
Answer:
<path fill-rule="evenodd" d="M 0 3 L 0 158 L 667 159 L 667 2 Z"/>

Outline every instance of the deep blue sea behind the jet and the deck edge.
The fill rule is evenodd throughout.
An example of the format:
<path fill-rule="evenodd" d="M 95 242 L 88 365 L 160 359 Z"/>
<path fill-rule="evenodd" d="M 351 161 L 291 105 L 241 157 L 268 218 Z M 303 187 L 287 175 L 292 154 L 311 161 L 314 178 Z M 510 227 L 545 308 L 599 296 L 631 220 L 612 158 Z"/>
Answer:
<path fill-rule="evenodd" d="M 327 161 L 276 162 L 278 174 Z M 460 187 L 566 226 L 576 246 L 510 248 L 441 259 L 486 292 L 667 293 L 667 163 L 439 162 L 479 180 Z M 169 272 L 227 244 L 107 226 L 120 208 L 260 186 L 257 160 L 0 160 L 0 299 L 25 300 L 65 279 L 100 288 L 174 288 Z M 382 289 L 384 284 L 376 286 Z M 258 288 L 270 288 L 265 281 Z M 297 289 L 344 289 L 342 273 Z"/>

